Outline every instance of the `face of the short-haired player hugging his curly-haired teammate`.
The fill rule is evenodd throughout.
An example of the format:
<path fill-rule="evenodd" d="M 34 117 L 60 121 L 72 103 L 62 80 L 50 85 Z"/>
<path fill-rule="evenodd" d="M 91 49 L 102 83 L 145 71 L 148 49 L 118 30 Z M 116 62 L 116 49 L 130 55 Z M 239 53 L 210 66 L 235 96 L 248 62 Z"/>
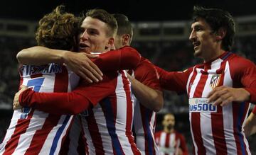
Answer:
<path fill-rule="evenodd" d="M 79 35 L 80 52 L 107 52 L 114 38 L 107 37 L 107 24 L 97 18 L 86 17 Z"/>

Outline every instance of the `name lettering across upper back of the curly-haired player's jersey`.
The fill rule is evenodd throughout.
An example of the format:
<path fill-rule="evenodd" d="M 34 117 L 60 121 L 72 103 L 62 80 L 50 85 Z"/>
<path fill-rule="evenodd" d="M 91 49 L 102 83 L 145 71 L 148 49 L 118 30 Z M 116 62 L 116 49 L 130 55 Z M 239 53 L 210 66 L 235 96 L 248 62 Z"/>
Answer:
<path fill-rule="evenodd" d="M 20 69 L 23 76 L 35 75 L 35 74 L 52 74 L 61 73 L 62 67 L 60 64 L 46 64 L 46 65 L 23 65 Z"/>

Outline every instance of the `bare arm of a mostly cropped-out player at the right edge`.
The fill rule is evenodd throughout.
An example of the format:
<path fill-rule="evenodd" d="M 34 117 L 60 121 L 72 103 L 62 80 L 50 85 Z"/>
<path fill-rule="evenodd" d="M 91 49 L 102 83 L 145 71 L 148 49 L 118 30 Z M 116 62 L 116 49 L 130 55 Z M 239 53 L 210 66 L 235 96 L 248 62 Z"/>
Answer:
<path fill-rule="evenodd" d="M 246 137 L 250 137 L 250 135 L 256 133 L 256 106 L 253 108 L 252 112 L 247 117 L 244 130 Z"/>

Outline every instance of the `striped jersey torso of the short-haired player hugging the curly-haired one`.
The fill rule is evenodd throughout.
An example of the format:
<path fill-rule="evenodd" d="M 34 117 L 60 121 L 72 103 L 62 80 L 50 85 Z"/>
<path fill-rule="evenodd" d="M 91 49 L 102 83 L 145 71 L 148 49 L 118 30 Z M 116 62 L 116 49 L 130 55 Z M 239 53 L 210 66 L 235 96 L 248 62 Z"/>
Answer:
<path fill-rule="evenodd" d="M 81 113 L 89 154 L 140 154 L 132 136 L 134 103 L 130 83 L 124 71 L 118 71 L 115 77 L 107 84 L 108 96 Z"/>

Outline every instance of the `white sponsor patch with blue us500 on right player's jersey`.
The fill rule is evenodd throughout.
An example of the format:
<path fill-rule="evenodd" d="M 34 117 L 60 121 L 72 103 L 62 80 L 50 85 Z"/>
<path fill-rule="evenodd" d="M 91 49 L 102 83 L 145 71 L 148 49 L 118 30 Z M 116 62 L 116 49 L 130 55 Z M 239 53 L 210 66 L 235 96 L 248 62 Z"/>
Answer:
<path fill-rule="evenodd" d="M 207 98 L 189 98 L 189 112 L 217 113 L 217 106 L 208 103 Z"/>

